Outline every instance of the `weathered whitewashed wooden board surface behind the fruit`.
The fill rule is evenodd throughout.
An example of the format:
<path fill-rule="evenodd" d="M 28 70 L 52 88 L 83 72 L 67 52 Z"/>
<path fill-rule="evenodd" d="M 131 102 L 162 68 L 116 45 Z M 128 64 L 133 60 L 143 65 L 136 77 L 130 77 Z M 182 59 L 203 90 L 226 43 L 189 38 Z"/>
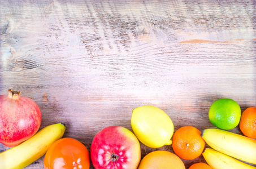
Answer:
<path fill-rule="evenodd" d="M 236 100 L 242 111 L 256 106 L 255 5 L 1 0 L 0 94 L 21 90 L 40 106 L 40 129 L 63 122 L 64 137 L 88 149 L 104 127 L 132 131 L 132 109 L 146 104 L 163 109 L 175 131 L 212 128 L 215 100 Z M 154 150 L 141 144 L 142 157 Z M 44 168 L 43 161 L 26 168 Z"/>

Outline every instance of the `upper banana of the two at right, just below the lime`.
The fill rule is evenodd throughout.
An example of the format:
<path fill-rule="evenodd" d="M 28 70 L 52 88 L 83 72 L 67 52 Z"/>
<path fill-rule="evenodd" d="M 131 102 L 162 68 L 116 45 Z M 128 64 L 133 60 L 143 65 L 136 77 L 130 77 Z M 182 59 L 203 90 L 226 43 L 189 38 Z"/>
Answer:
<path fill-rule="evenodd" d="M 205 129 L 202 137 L 211 148 L 256 164 L 256 140 L 217 128 Z"/>

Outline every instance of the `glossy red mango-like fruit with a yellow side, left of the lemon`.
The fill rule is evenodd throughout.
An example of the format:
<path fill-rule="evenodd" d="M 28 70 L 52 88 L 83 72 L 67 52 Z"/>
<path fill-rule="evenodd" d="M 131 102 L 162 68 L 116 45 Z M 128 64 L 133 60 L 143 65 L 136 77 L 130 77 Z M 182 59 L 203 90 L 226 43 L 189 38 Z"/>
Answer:
<path fill-rule="evenodd" d="M 140 143 L 125 127 L 105 127 L 94 136 L 90 157 L 96 169 L 135 169 L 141 160 Z"/>

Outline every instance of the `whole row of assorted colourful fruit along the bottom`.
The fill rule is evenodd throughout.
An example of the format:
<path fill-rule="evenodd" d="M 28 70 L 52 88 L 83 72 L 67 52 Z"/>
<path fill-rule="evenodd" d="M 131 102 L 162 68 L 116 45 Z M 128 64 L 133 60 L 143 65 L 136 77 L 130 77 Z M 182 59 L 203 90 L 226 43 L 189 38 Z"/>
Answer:
<path fill-rule="evenodd" d="M 171 118 L 163 110 L 142 105 L 132 110 L 132 131 L 122 126 L 109 126 L 99 131 L 90 152 L 76 139 L 63 137 L 66 126 L 51 124 L 38 131 L 41 111 L 20 92 L 0 95 L 0 143 L 12 148 L 0 153 L 0 168 L 24 168 L 44 157 L 45 168 L 179 168 L 181 159 L 192 160 L 203 155 L 206 163 L 196 168 L 256 168 L 256 108 L 241 113 L 232 99 L 219 99 L 209 109 L 209 120 L 216 128 L 202 132 L 193 126 L 173 130 Z M 230 131 L 240 127 L 245 135 Z M 171 146 L 174 153 L 155 150 L 141 159 L 140 142 L 150 148 Z M 210 148 L 206 148 L 206 144 Z M 244 162 L 243 162 L 244 161 Z"/>

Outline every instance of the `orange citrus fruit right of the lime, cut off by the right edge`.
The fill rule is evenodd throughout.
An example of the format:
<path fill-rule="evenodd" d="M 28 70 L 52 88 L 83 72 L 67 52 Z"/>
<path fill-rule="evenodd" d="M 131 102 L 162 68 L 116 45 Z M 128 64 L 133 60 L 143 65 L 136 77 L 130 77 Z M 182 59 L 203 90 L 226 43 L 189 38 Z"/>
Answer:
<path fill-rule="evenodd" d="M 256 139 L 256 108 L 247 108 L 242 112 L 239 127 L 245 136 Z"/>

